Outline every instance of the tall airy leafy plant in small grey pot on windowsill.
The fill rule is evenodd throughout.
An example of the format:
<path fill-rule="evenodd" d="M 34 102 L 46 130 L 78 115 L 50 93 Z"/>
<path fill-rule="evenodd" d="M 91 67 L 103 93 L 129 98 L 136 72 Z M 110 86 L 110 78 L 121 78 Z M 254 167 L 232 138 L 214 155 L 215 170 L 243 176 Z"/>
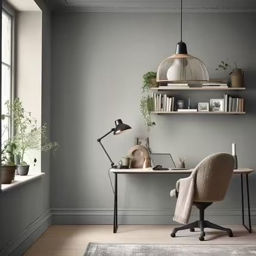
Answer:
<path fill-rule="evenodd" d="M 24 155 L 29 149 L 48 151 L 57 149 L 58 143 L 48 141 L 46 124 L 38 126 L 36 118 L 32 117 L 31 112 L 24 110 L 19 98 L 15 98 L 13 104 L 7 101 L 6 105 L 10 113 L 13 113 L 15 135 L 11 142 L 15 144 L 15 161 L 20 162 L 18 174 L 24 176 L 29 172 L 29 164 L 24 161 Z"/>

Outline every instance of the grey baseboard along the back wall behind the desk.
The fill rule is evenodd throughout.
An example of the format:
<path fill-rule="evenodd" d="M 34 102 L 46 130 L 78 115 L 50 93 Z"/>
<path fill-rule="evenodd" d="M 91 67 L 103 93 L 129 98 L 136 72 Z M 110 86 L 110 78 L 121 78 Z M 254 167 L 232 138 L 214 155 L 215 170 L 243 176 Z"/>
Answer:
<path fill-rule="evenodd" d="M 246 212 L 246 211 L 245 211 Z M 118 210 L 119 224 L 177 224 L 172 220 L 173 210 Z M 241 224 L 241 209 L 211 209 L 205 216 L 219 224 Z M 191 220 L 198 218 L 193 210 Z M 256 209 L 251 210 L 252 224 L 256 224 Z M 52 209 L 53 224 L 113 224 L 113 210 L 110 209 Z"/>

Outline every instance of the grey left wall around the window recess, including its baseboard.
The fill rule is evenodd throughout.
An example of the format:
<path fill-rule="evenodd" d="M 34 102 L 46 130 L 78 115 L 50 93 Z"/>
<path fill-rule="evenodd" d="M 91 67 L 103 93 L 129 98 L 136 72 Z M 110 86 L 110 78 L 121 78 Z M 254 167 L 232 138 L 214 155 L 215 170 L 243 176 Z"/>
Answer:
<path fill-rule="evenodd" d="M 42 123 L 50 121 L 51 17 L 43 1 L 42 22 Z M 42 155 L 42 179 L 0 193 L 0 255 L 21 255 L 51 224 L 49 212 L 49 155 Z"/>

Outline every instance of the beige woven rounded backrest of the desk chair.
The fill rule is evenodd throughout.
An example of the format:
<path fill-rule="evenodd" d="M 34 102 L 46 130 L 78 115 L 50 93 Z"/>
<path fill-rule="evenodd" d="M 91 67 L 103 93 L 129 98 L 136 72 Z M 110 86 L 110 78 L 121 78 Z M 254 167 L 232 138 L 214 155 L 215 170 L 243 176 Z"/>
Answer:
<path fill-rule="evenodd" d="M 193 170 L 197 202 L 222 201 L 234 170 L 234 158 L 227 153 L 209 155 Z"/>

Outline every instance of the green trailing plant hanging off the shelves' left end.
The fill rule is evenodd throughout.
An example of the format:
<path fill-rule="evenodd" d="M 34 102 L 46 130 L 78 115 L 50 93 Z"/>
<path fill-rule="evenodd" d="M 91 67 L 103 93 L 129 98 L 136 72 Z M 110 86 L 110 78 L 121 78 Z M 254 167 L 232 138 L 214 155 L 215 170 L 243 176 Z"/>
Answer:
<path fill-rule="evenodd" d="M 155 122 L 151 120 L 151 111 L 154 110 L 153 99 L 148 95 L 150 88 L 150 79 L 156 78 L 157 73 L 150 71 L 146 74 L 143 74 L 142 80 L 142 98 L 140 103 L 141 114 L 146 125 L 148 132 L 155 126 Z"/>

